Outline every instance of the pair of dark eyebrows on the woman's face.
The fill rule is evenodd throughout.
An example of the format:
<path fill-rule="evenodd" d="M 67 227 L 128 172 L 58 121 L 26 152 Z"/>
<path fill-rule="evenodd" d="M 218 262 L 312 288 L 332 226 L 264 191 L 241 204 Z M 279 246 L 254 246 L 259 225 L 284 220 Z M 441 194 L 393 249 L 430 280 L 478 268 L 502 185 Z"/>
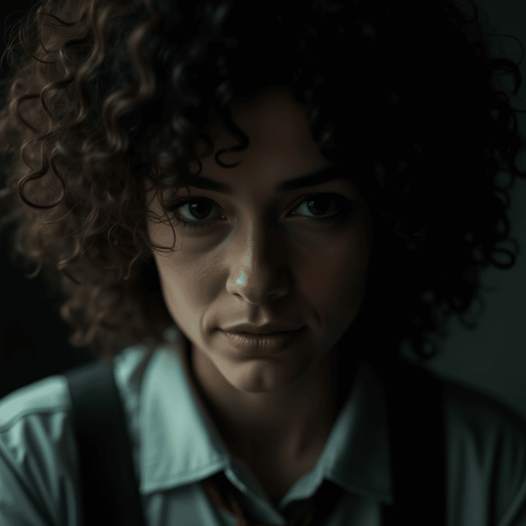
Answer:
<path fill-rule="evenodd" d="M 337 179 L 347 179 L 347 177 L 341 169 L 341 166 L 338 164 L 330 164 L 308 174 L 300 175 L 294 179 L 284 181 L 284 183 L 276 184 L 274 185 L 274 191 L 278 193 L 282 191 L 297 190 L 299 188 L 321 185 L 323 183 L 327 183 L 328 181 Z M 221 193 L 227 193 L 232 190 L 229 185 L 219 183 L 219 181 L 210 179 L 209 177 L 203 175 L 189 176 L 185 179 L 185 183 L 188 186 L 193 186 L 194 188 L 199 188 L 200 190 L 212 190 Z"/>

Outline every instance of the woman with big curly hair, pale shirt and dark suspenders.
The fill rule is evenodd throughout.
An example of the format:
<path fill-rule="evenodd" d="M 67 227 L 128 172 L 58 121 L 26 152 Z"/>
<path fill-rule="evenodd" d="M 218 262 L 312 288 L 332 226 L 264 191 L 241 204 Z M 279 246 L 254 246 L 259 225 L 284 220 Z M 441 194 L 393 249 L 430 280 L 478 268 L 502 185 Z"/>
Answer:
<path fill-rule="evenodd" d="M 431 377 L 398 358 L 514 262 L 493 73 L 520 73 L 471 7 L 49 0 L 23 22 L 4 221 L 112 365 L 146 524 L 526 520 L 526 423 L 446 382 L 428 417 Z M 0 404 L 7 524 L 96 505 L 70 378 Z"/>

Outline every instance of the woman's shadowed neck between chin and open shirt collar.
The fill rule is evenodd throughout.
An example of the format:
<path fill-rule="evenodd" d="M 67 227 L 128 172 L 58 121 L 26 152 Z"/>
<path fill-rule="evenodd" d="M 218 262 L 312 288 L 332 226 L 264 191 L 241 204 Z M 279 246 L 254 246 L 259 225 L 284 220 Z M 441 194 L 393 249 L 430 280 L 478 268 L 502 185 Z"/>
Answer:
<path fill-rule="evenodd" d="M 232 387 L 205 353 L 187 343 L 191 382 L 231 452 L 294 459 L 323 447 L 353 378 L 346 371 L 346 381 L 338 382 L 336 349 L 293 388 L 251 393 Z"/>

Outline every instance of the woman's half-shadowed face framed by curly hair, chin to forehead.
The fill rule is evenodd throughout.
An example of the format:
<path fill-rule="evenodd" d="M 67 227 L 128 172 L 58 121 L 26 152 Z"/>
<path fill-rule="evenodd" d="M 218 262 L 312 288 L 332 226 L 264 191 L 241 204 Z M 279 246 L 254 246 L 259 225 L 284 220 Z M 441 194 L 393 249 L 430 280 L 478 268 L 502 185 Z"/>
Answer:
<path fill-rule="evenodd" d="M 232 107 L 246 150 L 214 155 L 237 139 L 217 121 L 200 176 L 227 191 L 189 186 L 148 219 L 166 306 L 179 329 L 234 388 L 279 392 L 326 358 L 356 317 L 365 290 L 370 218 L 346 179 L 283 183 L 329 166 L 305 110 L 274 91 Z M 198 145 L 197 154 L 205 150 Z M 197 166 L 190 165 L 194 173 Z M 342 167 L 339 174 L 344 176 Z M 148 189 L 148 186 L 146 186 Z M 173 196 L 172 196 L 173 197 Z M 163 197 L 164 199 L 164 197 Z M 163 216 L 153 191 L 149 211 Z M 295 332 L 290 332 L 296 330 Z M 238 331 L 228 332 L 229 330 Z M 288 331 L 250 337 L 244 333 Z"/>

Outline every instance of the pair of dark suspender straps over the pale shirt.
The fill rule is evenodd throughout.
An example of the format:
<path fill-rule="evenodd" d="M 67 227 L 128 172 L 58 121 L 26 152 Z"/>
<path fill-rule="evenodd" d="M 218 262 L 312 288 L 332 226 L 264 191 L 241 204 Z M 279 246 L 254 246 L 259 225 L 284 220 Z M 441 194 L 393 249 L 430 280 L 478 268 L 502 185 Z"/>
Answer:
<path fill-rule="evenodd" d="M 442 382 L 401 359 L 376 370 L 385 386 L 395 500 L 383 506 L 382 524 L 444 526 Z M 145 526 L 112 367 L 95 361 L 64 374 L 73 401 L 84 525 Z"/>

